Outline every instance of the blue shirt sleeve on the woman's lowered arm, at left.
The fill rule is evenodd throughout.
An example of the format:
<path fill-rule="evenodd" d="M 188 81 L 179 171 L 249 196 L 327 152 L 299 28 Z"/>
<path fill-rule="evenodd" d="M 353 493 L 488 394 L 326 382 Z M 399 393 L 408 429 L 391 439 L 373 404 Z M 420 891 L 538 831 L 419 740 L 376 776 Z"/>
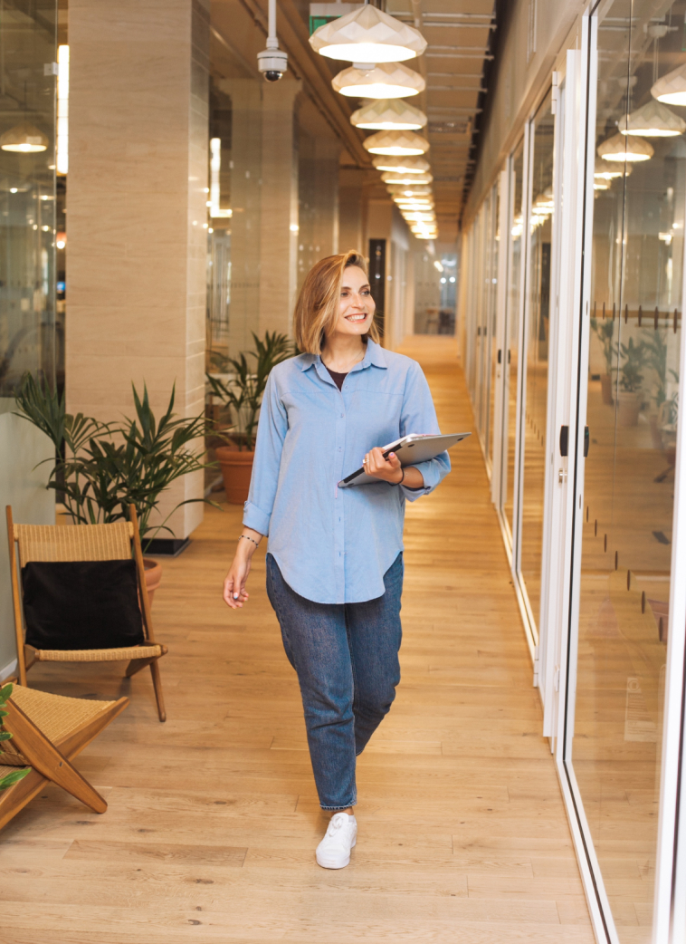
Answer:
<path fill-rule="evenodd" d="M 259 411 L 255 462 L 248 500 L 243 507 L 243 525 L 253 531 L 259 531 L 260 534 L 269 534 L 281 452 L 287 431 L 288 416 L 278 396 L 276 381 L 270 376 Z"/>

